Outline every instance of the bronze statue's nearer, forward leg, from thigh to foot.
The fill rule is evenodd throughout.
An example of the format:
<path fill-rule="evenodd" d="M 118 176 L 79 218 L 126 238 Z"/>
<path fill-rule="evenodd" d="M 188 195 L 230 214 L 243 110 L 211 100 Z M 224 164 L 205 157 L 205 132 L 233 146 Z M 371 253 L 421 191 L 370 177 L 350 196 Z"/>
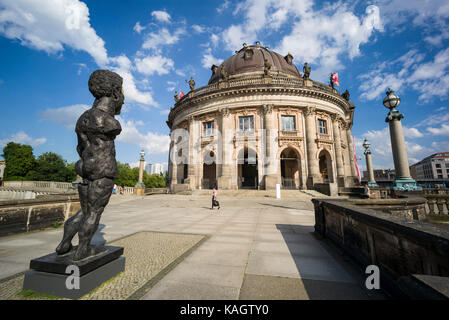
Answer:
<path fill-rule="evenodd" d="M 89 246 L 90 241 L 98 229 L 101 214 L 109 202 L 113 188 L 114 180 L 109 178 L 89 182 L 87 196 L 89 210 L 84 215 L 78 231 L 79 245 L 73 260 L 81 260 L 95 253 L 94 249 Z"/>

